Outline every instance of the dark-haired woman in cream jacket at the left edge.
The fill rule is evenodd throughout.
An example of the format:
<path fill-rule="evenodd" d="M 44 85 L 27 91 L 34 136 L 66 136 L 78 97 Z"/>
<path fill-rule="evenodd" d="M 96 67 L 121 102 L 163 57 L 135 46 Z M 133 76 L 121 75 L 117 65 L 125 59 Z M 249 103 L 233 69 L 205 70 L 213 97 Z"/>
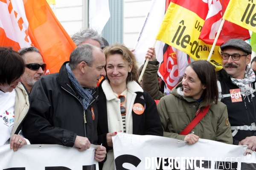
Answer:
<path fill-rule="evenodd" d="M 20 83 L 24 65 L 20 54 L 0 47 L 0 146 L 10 144 L 14 151 L 29 143 L 20 133 L 29 110 L 29 95 Z"/>

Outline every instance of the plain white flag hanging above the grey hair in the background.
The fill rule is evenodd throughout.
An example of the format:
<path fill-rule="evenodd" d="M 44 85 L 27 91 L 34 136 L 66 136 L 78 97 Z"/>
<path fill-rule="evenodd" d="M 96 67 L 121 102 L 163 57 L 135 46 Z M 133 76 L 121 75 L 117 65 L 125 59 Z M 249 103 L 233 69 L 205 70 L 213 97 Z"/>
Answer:
<path fill-rule="evenodd" d="M 101 34 L 110 17 L 108 0 L 89 0 L 90 28 Z"/>

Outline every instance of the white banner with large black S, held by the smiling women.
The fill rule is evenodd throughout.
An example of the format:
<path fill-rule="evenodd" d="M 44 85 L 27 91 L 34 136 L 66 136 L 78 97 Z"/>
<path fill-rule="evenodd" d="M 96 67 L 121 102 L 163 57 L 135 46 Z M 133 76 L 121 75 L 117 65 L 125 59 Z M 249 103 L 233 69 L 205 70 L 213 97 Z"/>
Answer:
<path fill-rule="evenodd" d="M 172 138 L 126 133 L 117 133 L 112 140 L 116 170 L 240 170 L 243 162 L 256 163 L 255 152 L 243 156 L 246 145 L 207 139 L 189 145 Z"/>

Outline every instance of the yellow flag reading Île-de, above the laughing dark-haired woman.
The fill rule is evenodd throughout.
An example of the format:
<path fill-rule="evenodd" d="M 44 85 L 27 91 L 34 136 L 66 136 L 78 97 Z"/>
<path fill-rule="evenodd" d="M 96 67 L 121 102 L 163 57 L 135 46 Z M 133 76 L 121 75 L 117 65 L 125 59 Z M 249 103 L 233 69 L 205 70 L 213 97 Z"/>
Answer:
<path fill-rule="evenodd" d="M 189 10 L 188 7 L 185 8 L 172 1 L 163 18 L 156 40 L 163 41 L 189 54 L 194 60 L 207 60 L 212 45 L 198 39 L 204 26 L 205 18 L 199 17 L 199 15 L 203 16 L 203 14 L 195 13 L 195 8 L 203 7 L 198 5 Z M 200 12 L 200 10 L 198 11 Z M 206 15 L 204 14 L 205 17 Z M 215 66 L 216 71 L 222 68 L 219 46 L 215 46 L 210 62 Z"/>

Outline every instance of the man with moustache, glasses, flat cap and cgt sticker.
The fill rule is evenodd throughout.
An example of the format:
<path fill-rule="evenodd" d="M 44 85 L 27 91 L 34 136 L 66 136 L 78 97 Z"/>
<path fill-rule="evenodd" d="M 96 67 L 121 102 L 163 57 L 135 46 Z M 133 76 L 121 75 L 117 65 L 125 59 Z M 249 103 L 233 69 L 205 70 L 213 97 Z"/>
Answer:
<path fill-rule="evenodd" d="M 255 72 L 248 65 L 250 44 L 231 39 L 221 45 L 223 69 L 217 72 L 219 100 L 227 105 L 233 144 L 256 149 L 256 92 Z"/>

